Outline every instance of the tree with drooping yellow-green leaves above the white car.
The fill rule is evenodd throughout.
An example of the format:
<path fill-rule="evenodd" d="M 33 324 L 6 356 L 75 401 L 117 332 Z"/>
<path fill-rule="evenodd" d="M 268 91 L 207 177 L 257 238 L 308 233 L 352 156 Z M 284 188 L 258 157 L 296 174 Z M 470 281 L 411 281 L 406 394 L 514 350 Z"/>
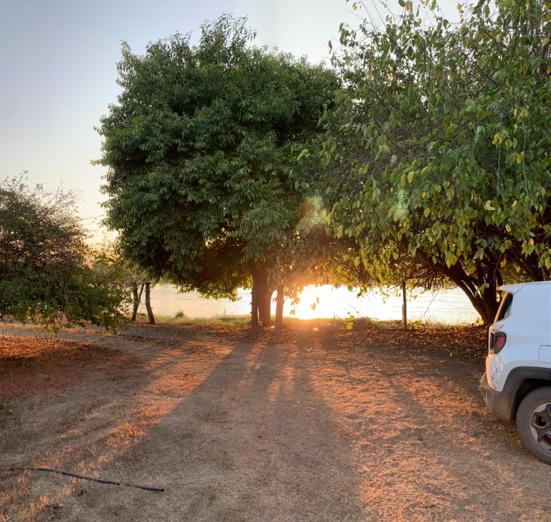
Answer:
<path fill-rule="evenodd" d="M 454 25 L 399 3 L 342 27 L 331 228 L 383 284 L 433 270 L 489 322 L 504 276 L 551 275 L 551 4 L 481 0 Z"/>

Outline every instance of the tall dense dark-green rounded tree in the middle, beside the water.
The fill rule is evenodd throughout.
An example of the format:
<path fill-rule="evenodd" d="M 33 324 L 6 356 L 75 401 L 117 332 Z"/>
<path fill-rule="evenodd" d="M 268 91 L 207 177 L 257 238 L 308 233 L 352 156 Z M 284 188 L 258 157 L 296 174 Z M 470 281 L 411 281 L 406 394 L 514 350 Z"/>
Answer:
<path fill-rule="evenodd" d="M 222 16 L 198 45 L 175 34 L 145 56 L 123 45 L 123 92 L 101 120 L 106 223 L 125 257 L 212 297 L 252 282 L 253 326 L 270 320 L 270 276 L 293 246 L 302 192 L 296 149 L 317 132 L 335 75 L 249 48 Z"/>

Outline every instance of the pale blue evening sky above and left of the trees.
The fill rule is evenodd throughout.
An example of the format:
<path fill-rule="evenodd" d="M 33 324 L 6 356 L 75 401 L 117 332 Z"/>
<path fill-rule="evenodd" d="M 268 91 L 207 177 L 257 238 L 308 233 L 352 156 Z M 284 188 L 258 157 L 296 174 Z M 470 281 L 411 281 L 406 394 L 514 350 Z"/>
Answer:
<path fill-rule="evenodd" d="M 105 168 L 90 162 L 94 126 L 120 92 L 121 42 L 136 54 L 175 32 L 194 42 L 224 12 L 248 16 L 254 45 L 311 63 L 328 59 L 341 22 L 359 21 L 346 0 L 0 0 L 0 178 L 27 171 L 30 185 L 79 191 L 82 224 L 101 241 Z"/>

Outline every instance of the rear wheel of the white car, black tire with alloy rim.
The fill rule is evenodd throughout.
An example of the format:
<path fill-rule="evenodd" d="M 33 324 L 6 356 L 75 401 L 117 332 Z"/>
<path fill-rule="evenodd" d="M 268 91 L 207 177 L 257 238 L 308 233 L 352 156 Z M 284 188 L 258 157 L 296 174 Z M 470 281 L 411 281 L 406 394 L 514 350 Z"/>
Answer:
<path fill-rule="evenodd" d="M 522 399 L 517 430 L 526 448 L 551 464 L 551 386 L 536 388 Z"/>

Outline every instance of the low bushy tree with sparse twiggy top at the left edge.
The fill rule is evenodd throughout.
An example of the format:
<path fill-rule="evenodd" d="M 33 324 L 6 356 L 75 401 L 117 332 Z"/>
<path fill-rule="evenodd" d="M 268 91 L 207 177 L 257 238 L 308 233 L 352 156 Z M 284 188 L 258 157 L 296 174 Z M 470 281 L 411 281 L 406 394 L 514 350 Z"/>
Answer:
<path fill-rule="evenodd" d="M 113 330 L 123 309 L 121 286 L 92 267 L 74 194 L 1 179 L 0 317 L 53 331 L 83 321 Z"/>

